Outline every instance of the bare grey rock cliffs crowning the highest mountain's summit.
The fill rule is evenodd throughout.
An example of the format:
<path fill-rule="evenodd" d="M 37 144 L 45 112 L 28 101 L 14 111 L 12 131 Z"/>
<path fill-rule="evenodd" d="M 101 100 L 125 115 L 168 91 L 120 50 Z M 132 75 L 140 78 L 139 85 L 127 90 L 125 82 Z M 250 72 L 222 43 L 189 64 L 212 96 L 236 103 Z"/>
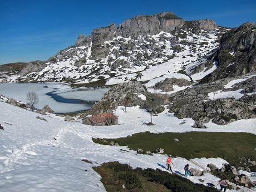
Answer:
<path fill-rule="evenodd" d="M 187 24 L 187 25 L 186 25 Z M 175 29 L 195 27 L 197 29 L 212 30 L 218 28 L 217 24 L 211 19 L 202 19 L 191 22 L 185 22 L 183 18 L 176 16 L 172 12 L 164 12 L 154 15 L 139 15 L 127 19 L 116 28 L 115 23 L 109 26 L 93 29 L 90 36 L 78 36 L 77 46 L 88 46 L 90 41 L 101 43 L 110 41 L 114 37 L 132 37 L 137 38 L 141 35 L 156 35 L 159 32 L 171 32 Z"/>

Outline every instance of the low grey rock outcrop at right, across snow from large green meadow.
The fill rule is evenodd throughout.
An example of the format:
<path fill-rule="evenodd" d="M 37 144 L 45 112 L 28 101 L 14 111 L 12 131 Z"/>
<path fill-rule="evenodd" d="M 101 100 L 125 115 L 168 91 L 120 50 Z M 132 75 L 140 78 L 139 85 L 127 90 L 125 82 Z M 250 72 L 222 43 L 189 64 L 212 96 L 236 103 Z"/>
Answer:
<path fill-rule="evenodd" d="M 170 105 L 170 111 L 180 119 L 192 117 L 196 120 L 196 127 L 202 127 L 202 122 L 209 122 L 210 119 L 215 124 L 225 125 L 240 119 L 251 119 L 256 117 L 256 107 L 236 101 L 235 99 L 218 99 L 213 101 L 199 101 L 180 105 L 174 103 Z M 199 124 L 199 122 L 201 122 Z"/>

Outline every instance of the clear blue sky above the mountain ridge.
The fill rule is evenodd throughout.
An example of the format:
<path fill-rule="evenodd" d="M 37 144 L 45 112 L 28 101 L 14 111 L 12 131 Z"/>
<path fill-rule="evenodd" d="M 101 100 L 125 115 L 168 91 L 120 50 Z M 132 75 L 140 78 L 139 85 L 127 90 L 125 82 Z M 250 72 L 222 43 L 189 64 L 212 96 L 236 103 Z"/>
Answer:
<path fill-rule="evenodd" d="M 256 1 L 4 1 L 0 0 L 0 64 L 46 60 L 80 34 L 138 14 L 173 12 L 220 26 L 256 22 Z"/>

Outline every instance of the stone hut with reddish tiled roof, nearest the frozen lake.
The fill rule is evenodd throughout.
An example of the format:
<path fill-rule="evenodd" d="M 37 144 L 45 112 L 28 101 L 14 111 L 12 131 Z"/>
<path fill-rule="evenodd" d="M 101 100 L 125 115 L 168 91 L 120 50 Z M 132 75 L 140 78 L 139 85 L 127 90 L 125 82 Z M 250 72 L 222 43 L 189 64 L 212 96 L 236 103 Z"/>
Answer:
<path fill-rule="evenodd" d="M 83 119 L 83 124 L 95 126 L 117 125 L 118 117 L 114 115 L 112 112 L 100 115 L 92 115 Z"/>

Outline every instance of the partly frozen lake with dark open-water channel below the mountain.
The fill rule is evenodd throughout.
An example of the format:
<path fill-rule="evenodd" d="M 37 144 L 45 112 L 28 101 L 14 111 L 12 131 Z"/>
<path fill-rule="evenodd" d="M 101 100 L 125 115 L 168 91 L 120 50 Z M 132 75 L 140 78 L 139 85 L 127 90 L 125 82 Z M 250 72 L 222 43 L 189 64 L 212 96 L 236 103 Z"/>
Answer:
<path fill-rule="evenodd" d="M 48 104 L 55 112 L 65 113 L 88 110 L 99 101 L 108 88 L 71 88 L 61 83 L 0 83 L 0 95 L 27 102 L 27 92 L 39 97 L 36 108 Z"/>

